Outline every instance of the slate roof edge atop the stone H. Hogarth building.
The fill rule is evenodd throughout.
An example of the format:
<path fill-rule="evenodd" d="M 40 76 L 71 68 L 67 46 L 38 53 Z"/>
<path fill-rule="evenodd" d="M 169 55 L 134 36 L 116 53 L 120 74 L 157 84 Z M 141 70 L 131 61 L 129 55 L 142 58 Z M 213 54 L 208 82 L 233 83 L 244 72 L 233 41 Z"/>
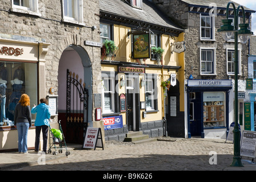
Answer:
<path fill-rule="evenodd" d="M 217 7 L 219 7 L 219 8 L 221 7 L 221 8 L 224 8 L 224 9 L 226 9 L 227 3 L 230 2 L 230 0 L 207 0 L 207 1 L 205 1 L 205 0 L 180 0 L 180 1 L 185 2 L 185 3 L 189 4 L 189 5 L 204 6 L 204 7 L 209 7 L 210 3 L 215 3 L 217 5 Z M 233 3 L 235 4 L 235 7 L 239 6 L 238 3 L 236 3 L 236 2 L 233 2 Z M 249 9 L 246 6 L 243 6 L 243 8 L 246 11 L 252 11 L 252 12 L 255 13 L 254 10 Z M 233 6 L 230 5 L 229 9 L 233 9 Z"/>

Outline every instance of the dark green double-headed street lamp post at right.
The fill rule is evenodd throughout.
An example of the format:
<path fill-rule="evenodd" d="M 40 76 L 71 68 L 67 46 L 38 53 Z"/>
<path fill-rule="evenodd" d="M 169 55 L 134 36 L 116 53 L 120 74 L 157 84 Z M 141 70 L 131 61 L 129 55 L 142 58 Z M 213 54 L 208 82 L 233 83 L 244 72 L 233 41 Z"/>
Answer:
<path fill-rule="evenodd" d="M 233 22 L 232 19 L 229 18 L 229 6 L 230 4 L 233 6 L 234 9 L 234 26 L 231 25 Z M 239 24 L 240 30 L 238 30 L 238 17 L 239 17 L 239 9 L 242 9 L 242 15 L 243 15 L 243 23 Z M 243 9 L 243 6 L 239 5 L 237 7 L 237 10 L 235 9 L 235 5 L 233 2 L 229 2 L 227 4 L 227 10 L 226 10 L 226 19 L 222 20 L 223 26 L 221 26 L 221 29 L 218 30 L 218 32 L 222 33 L 222 36 L 225 40 L 230 40 L 234 34 L 234 40 L 235 40 L 235 107 L 234 107 L 234 119 L 235 119 L 235 126 L 234 126 L 234 156 L 233 156 L 233 162 L 230 166 L 243 166 L 241 162 L 241 156 L 240 156 L 240 131 L 238 127 L 238 36 L 241 43 L 245 44 L 251 35 L 253 35 L 253 32 L 251 32 L 248 27 L 249 24 L 245 23 L 245 10 Z"/>

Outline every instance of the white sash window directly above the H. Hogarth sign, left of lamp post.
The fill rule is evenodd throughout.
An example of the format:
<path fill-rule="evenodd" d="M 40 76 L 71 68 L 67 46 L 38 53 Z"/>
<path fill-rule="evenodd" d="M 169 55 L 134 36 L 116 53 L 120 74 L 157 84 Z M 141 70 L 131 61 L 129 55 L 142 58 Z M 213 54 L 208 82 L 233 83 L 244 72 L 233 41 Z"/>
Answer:
<path fill-rule="evenodd" d="M 215 73 L 215 49 L 201 49 L 201 75 Z"/>

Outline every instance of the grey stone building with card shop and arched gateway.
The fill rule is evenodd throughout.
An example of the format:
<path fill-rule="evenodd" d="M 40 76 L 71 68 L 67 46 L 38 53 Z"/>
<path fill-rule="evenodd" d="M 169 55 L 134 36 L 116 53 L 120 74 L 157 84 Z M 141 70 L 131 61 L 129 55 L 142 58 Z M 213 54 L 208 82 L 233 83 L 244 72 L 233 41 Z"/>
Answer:
<path fill-rule="evenodd" d="M 61 120 L 64 134 L 67 134 L 66 125 L 70 119 L 72 123 L 85 121 L 89 127 L 103 127 L 101 121 L 95 121 L 93 99 L 93 94 L 98 93 L 97 87 L 101 83 L 97 77 L 101 74 L 101 49 L 97 46 L 100 42 L 99 2 L 71 2 L 3 0 L 0 5 L 0 62 L 1 69 L 6 69 L 8 75 L 6 114 L 10 108 L 10 95 L 14 92 L 10 81 L 14 79 L 13 73 L 19 67 L 25 74 L 21 93 L 31 95 L 31 107 L 33 104 L 39 104 L 40 98 L 53 98 L 51 127 L 57 128 L 57 121 Z M 9 52 L 5 51 L 7 48 Z M 12 48 L 20 48 L 23 52 L 18 56 L 14 55 Z M 82 109 L 77 106 L 71 108 L 71 113 L 75 110 L 82 116 L 71 115 L 69 119 L 65 117 L 66 105 L 69 102 L 66 101 L 67 69 L 72 76 L 74 74 L 73 78 L 78 79 L 77 83 L 80 82 L 81 88 L 87 89 L 89 93 L 86 109 L 83 108 L 83 103 Z M 32 78 L 33 85 L 29 85 Z M 75 92 L 71 90 L 70 94 L 74 95 Z M 75 94 L 75 97 L 78 95 Z M 73 102 L 77 104 L 78 100 Z M 85 113 L 85 110 L 88 110 L 88 113 Z M 82 118 L 85 115 L 87 121 L 86 117 Z M 67 134 L 65 138 L 68 140 L 70 137 L 78 137 L 81 142 L 85 127 L 82 127 L 79 136 L 73 133 Z M 17 140 L 17 130 L 14 126 L 0 126 L 0 133 L 0 150 L 12 150 L 17 147 L 15 142 L 11 142 Z M 31 137 L 34 133 L 34 127 L 31 127 L 29 148 L 34 147 L 34 137 Z"/>

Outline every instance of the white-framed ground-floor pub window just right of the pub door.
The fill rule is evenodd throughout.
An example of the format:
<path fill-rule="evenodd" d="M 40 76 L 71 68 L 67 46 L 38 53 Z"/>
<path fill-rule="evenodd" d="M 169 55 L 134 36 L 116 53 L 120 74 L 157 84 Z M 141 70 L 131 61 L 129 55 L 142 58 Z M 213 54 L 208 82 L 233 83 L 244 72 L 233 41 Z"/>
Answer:
<path fill-rule="evenodd" d="M 146 111 L 157 110 L 157 91 L 156 91 L 156 76 L 147 75 L 146 85 L 145 85 L 145 100 L 146 100 Z"/>

